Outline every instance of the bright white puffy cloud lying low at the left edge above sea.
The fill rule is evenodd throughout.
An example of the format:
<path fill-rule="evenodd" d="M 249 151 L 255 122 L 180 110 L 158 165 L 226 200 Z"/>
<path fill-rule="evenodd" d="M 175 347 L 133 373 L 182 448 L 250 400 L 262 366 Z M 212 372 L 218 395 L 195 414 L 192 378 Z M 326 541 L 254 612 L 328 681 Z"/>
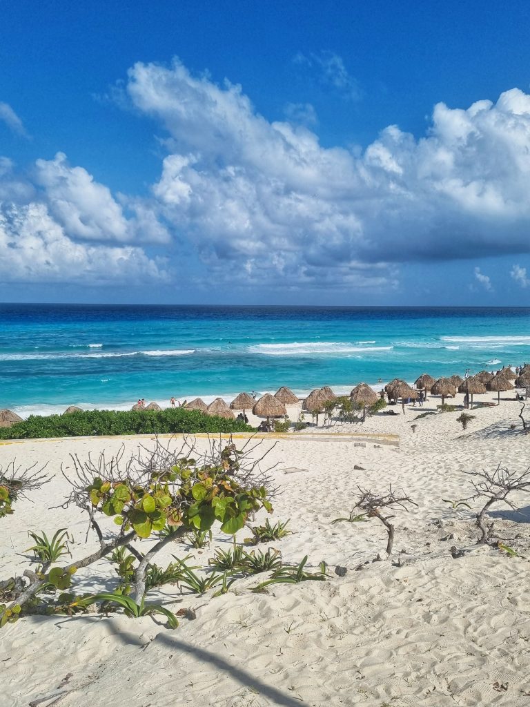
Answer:
<path fill-rule="evenodd" d="M 0 204 L 0 276 L 9 282 L 119 285 L 166 281 L 160 259 L 138 247 L 75 243 L 45 204 Z"/>

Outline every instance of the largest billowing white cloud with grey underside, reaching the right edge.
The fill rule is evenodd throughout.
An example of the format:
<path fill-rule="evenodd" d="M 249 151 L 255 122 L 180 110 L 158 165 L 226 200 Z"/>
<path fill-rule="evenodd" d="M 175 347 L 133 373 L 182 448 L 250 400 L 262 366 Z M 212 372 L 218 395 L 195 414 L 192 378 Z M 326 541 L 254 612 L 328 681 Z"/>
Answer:
<path fill-rule="evenodd" d="M 230 281 L 348 287 L 399 264 L 529 252 L 530 96 L 439 103 L 428 133 L 397 126 L 358 153 L 259 115 L 240 86 L 135 64 L 126 90 L 170 137 L 161 216 Z M 361 270 L 362 276 L 361 276 Z"/>

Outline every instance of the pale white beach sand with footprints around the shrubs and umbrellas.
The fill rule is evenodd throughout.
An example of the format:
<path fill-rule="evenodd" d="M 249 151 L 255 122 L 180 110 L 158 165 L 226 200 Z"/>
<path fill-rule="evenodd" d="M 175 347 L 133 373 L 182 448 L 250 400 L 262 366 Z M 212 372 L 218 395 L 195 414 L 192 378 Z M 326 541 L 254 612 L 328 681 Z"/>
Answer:
<path fill-rule="evenodd" d="M 439 403 L 432 399 L 423 411 Z M 472 513 L 451 513 L 442 502 L 470 495 L 465 472 L 472 469 L 493 469 L 499 462 L 526 468 L 529 440 L 520 433 L 519 405 L 473 411 L 476 419 L 466 433 L 455 421 L 459 412 L 419 420 L 413 433 L 420 412 L 408 409 L 405 416 L 377 416 L 343 429 L 397 433 L 399 448 L 355 447 L 352 438 L 319 431 L 322 438 L 282 439 L 271 450 L 271 464 L 280 462 L 274 474 L 283 491 L 273 520 L 290 518 L 293 530 L 271 547 L 281 549 L 287 562 L 308 554 L 311 568 L 325 560 L 328 582 L 273 585 L 268 594 L 256 595 L 249 588 L 259 579 L 248 578 L 216 598 L 211 592 L 181 596 L 171 587 L 163 595 L 153 592 L 170 609 L 196 609 L 196 620 L 182 619 L 176 631 L 149 617 L 135 621 L 119 614 L 26 617 L 0 633 L 0 704 L 27 706 L 51 696 L 70 673 L 64 689 L 73 691 L 60 707 L 529 705 L 529 561 L 477 547 Z M 28 529 L 68 527 L 76 540 L 74 558 L 96 547 L 92 538 L 84 544 L 86 518 L 76 508 L 49 507 L 66 493 L 58 472 L 70 452 L 83 457 L 90 450 L 117 450 L 121 443 L 95 438 L 0 446 L 1 464 L 14 456 L 24 464 L 46 460 L 57 474 L 33 494 L 34 503 L 21 501 L 14 515 L 0 520 L 1 578 L 28 566 Z M 126 448 L 137 443 L 126 440 Z M 354 470 L 354 464 L 364 469 Z M 358 484 L 384 490 L 390 482 L 418 503 L 411 513 L 396 513 L 396 554 L 403 549 L 412 558 L 401 568 L 389 559 L 371 562 L 377 553 L 385 558 L 386 534 L 376 521 L 331 525 L 353 506 Z M 530 557 L 530 498 L 519 501 L 526 514 L 517 523 L 498 522 L 507 537 L 521 536 L 509 544 Z M 437 519 L 441 524 L 435 525 Z M 215 534 L 211 549 L 194 551 L 196 564 L 206 566 L 213 550 L 228 543 Z M 471 551 L 452 559 L 452 545 Z M 157 563 L 170 561 L 172 552 L 184 556 L 189 547 L 178 544 Z M 364 561 L 370 562 L 355 571 Z M 348 568 L 343 578 L 333 572 L 337 564 Z M 115 585 L 108 561 L 92 574 L 96 569 L 100 583 L 80 572 L 78 591 Z"/>

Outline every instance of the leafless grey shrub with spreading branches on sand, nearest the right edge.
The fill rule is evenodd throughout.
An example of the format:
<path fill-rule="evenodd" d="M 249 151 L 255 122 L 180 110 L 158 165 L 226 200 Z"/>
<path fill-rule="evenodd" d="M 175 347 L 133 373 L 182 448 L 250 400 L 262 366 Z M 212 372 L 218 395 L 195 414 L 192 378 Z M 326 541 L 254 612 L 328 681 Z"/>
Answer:
<path fill-rule="evenodd" d="M 530 467 L 524 472 L 510 472 L 499 464 L 493 472 L 482 469 L 480 472 L 466 472 L 466 474 L 472 479 L 471 486 L 475 490 L 473 498 L 487 499 L 476 515 L 476 525 L 481 531 L 478 544 L 490 544 L 490 539 L 497 535 L 494 532 L 493 521 L 486 527 L 486 513 L 494 503 L 506 503 L 513 510 L 519 510 L 508 496 L 514 491 L 530 492 Z"/>

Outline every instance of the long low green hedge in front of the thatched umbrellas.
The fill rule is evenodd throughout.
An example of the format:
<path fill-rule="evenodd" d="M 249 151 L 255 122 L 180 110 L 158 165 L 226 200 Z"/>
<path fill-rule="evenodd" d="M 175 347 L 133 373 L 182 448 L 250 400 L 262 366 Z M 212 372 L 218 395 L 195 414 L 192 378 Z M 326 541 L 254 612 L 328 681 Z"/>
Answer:
<path fill-rule="evenodd" d="M 145 435 L 194 432 L 252 432 L 241 420 L 205 415 L 199 410 L 86 410 L 66 415 L 31 415 L 11 427 L 0 428 L 0 439 Z"/>

